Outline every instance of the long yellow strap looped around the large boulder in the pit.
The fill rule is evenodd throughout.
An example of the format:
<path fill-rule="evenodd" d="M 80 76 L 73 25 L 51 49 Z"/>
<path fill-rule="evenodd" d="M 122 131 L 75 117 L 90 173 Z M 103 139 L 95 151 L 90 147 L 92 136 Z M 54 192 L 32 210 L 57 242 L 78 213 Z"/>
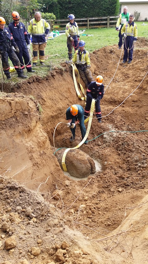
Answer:
<path fill-rule="evenodd" d="M 86 138 L 88 137 L 89 135 L 89 131 L 90 131 L 90 127 L 91 127 L 91 122 L 92 122 L 92 119 L 93 119 L 93 113 L 94 113 L 94 105 L 95 105 L 95 100 L 93 99 L 92 102 L 91 102 L 91 109 L 90 109 L 90 116 L 89 116 L 89 123 L 88 123 L 88 127 L 87 127 L 87 130 L 86 130 L 86 134 L 85 134 L 85 137 L 82 139 L 82 141 L 74 148 L 68 148 L 64 151 L 63 153 L 63 157 L 62 157 L 62 167 L 63 167 L 63 170 L 64 171 L 67 171 L 67 168 L 66 168 L 66 164 L 65 164 L 65 158 L 66 158 L 66 154 L 69 150 L 71 149 L 77 149 L 79 148 L 86 140 Z M 88 119 L 88 118 L 87 118 Z"/>

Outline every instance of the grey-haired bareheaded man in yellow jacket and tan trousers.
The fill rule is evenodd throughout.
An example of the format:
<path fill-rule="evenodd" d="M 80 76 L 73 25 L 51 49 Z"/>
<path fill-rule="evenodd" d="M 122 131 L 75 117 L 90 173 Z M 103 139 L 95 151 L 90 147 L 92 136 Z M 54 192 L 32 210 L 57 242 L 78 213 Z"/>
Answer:
<path fill-rule="evenodd" d="M 46 28 L 46 30 L 45 30 Z M 35 12 L 34 18 L 28 24 L 28 36 L 32 34 L 33 66 L 37 64 L 38 52 L 41 65 L 45 65 L 45 48 L 47 45 L 45 37 L 50 30 L 50 25 L 41 18 L 40 12 Z"/>

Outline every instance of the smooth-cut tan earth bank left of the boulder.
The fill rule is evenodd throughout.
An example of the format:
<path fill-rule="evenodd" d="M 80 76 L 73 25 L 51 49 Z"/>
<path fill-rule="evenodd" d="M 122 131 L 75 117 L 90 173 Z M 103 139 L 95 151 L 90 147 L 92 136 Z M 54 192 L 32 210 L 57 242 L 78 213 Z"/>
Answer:
<path fill-rule="evenodd" d="M 0 168 L 9 168 L 8 176 L 35 190 L 48 178 L 40 186 L 43 192 L 63 172 L 39 119 L 36 105 L 24 95 L 0 98 Z"/>

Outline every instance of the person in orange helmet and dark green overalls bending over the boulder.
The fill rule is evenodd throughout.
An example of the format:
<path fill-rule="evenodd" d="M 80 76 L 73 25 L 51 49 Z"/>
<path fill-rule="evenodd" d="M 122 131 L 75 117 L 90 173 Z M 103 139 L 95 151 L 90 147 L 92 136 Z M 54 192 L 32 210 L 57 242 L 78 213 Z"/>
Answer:
<path fill-rule="evenodd" d="M 81 129 L 81 135 L 82 139 L 85 137 L 86 134 L 86 127 L 84 124 L 84 109 L 79 104 L 73 104 L 72 106 L 68 107 L 66 110 L 66 120 L 68 120 L 67 127 L 70 127 L 70 130 L 72 131 L 72 136 L 70 138 L 70 142 L 75 140 L 75 130 L 76 125 L 80 124 Z M 88 144 L 88 141 L 86 140 L 84 144 Z"/>

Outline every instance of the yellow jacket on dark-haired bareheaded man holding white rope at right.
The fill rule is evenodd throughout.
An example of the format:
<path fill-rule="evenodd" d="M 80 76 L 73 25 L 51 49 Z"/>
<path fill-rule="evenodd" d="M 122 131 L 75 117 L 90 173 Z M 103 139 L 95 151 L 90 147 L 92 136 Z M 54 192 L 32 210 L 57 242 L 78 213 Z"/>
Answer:
<path fill-rule="evenodd" d="M 137 25 L 134 22 L 132 22 L 132 24 L 130 26 L 129 26 L 128 22 L 124 23 L 124 25 L 121 29 L 121 35 L 124 35 L 124 33 L 127 36 L 134 37 L 133 40 L 137 40 L 137 35 L 138 35 Z"/>

